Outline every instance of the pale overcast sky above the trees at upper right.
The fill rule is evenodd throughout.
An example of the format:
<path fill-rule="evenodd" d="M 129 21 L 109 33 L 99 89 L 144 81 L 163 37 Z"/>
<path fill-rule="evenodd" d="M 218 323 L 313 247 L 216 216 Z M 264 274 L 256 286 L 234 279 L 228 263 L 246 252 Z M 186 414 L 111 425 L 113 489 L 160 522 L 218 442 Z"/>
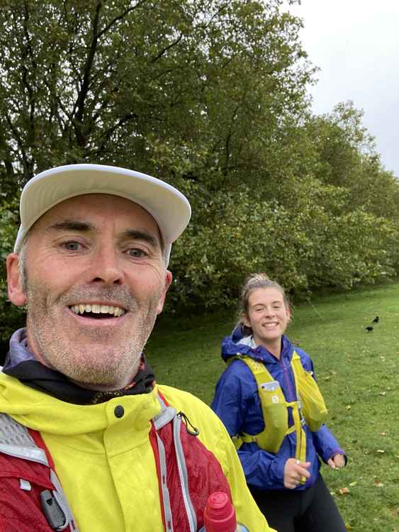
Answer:
<path fill-rule="evenodd" d="M 302 0 L 289 11 L 303 18 L 303 48 L 321 69 L 313 110 L 354 101 L 383 165 L 399 177 L 399 1 Z"/>

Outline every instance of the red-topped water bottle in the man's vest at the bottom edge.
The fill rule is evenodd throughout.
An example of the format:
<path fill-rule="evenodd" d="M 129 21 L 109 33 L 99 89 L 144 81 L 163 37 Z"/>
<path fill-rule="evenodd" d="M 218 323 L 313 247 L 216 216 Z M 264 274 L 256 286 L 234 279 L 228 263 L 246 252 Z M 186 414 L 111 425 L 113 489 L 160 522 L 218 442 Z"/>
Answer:
<path fill-rule="evenodd" d="M 204 526 L 199 532 L 249 532 L 237 523 L 235 509 L 225 492 L 213 492 L 208 497 L 203 512 Z"/>

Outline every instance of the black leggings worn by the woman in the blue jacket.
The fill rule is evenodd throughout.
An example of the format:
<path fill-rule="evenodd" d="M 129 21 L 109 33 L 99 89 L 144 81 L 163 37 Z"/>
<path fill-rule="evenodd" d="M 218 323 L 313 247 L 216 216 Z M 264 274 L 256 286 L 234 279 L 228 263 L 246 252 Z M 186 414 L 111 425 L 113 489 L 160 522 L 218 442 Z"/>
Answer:
<path fill-rule="evenodd" d="M 321 475 L 303 491 L 249 489 L 269 526 L 278 532 L 347 532 Z"/>

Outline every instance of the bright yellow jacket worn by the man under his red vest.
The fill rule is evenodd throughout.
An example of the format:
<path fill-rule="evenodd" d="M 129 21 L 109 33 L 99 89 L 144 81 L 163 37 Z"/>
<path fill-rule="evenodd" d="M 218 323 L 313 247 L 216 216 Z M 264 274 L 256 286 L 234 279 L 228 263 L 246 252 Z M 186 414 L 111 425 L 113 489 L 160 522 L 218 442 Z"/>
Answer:
<path fill-rule="evenodd" d="M 201 442 L 220 462 L 237 520 L 249 531 L 271 532 L 247 489 L 223 423 L 191 394 L 166 386 L 158 389 L 171 406 L 184 411 L 199 429 Z M 123 416 L 116 416 L 116 406 L 123 407 Z M 82 406 L 55 399 L 0 373 L 0 411 L 40 432 L 80 532 L 164 530 L 148 438 L 150 420 L 160 408 L 157 389 Z"/>

